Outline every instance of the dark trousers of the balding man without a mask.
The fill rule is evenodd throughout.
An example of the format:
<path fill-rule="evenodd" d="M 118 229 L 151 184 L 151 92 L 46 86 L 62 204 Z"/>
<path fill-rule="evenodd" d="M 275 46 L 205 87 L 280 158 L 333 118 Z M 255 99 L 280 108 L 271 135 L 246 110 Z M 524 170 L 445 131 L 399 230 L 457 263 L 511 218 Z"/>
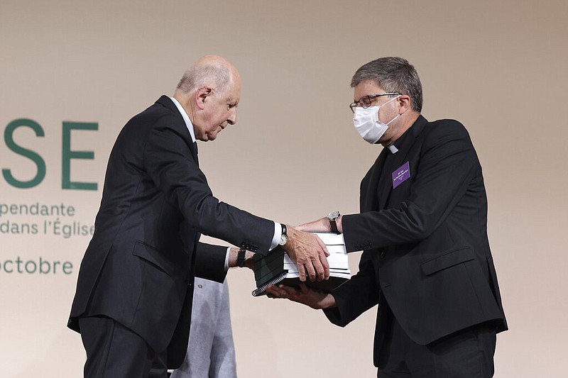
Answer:
<path fill-rule="evenodd" d="M 166 378 L 166 354 L 156 353 L 136 333 L 104 316 L 80 318 L 87 351 L 84 378 Z"/>

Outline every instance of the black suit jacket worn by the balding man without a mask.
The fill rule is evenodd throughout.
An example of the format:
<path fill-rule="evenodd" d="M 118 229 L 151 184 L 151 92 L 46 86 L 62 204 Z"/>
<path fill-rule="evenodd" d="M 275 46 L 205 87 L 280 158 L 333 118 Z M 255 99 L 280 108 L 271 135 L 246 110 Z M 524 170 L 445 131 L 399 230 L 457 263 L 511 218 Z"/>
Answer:
<path fill-rule="evenodd" d="M 126 123 L 111 151 L 69 327 L 109 316 L 154 350 L 168 348 L 169 367 L 180 365 L 196 270 L 225 276 L 226 248 L 198 243 L 200 233 L 266 253 L 274 225 L 212 195 L 180 112 L 161 96 Z"/>

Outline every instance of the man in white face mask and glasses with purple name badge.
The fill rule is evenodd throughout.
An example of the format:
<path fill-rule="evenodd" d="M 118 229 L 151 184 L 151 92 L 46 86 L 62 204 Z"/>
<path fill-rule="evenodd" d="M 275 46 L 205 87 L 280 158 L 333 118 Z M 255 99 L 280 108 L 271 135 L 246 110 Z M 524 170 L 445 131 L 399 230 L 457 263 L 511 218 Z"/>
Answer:
<path fill-rule="evenodd" d="M 330 294 L 267 291 L 321 308 L 338 326 L 378 304 L 378 377 L 493 377 L 496 333 L 507 323 L 469 134 L 420 114 L 422 85 L 402 58 L 368 62 L 351 87 L 357 132 L 385 148 L 361 182 L 361 213 L 334 211 L 300 229 L 343 233 L 348 252 L 364 250 L 359 272 Z"/>

